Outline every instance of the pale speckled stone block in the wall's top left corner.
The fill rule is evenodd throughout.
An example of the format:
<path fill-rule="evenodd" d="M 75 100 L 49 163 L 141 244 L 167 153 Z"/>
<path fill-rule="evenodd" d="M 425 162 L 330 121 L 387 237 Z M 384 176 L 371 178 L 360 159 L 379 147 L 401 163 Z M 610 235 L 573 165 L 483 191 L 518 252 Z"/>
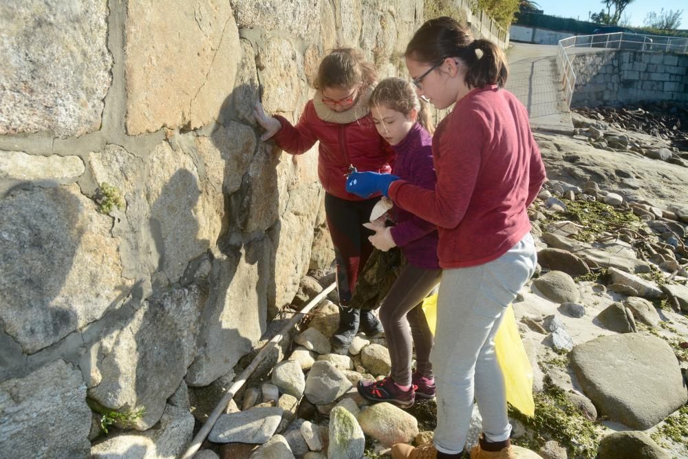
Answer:
<path fill-rule="evenodd" d="M 105 2 L 3 3 L 0 136 L 47 131 L 65 138 L 100 129 L 112 81 L 108 14 Z"/>

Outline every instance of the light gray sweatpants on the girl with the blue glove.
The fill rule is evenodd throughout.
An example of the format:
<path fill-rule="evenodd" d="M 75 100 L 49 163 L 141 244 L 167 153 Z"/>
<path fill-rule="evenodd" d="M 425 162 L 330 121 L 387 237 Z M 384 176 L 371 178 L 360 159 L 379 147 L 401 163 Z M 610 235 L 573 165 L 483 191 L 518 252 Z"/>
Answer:
<path fill-rule="evenodd" d="M 479 266 L 445 269 L 437 305 L 430 361 L 437 385 L 438 451 L 464 449 L 473 397 L 488 441 L 509 438 L 504 374 L 495 355 L 495 333 L 504 311 L 535 272 L 537 255 L 528 233 L 501 257 Z"/>

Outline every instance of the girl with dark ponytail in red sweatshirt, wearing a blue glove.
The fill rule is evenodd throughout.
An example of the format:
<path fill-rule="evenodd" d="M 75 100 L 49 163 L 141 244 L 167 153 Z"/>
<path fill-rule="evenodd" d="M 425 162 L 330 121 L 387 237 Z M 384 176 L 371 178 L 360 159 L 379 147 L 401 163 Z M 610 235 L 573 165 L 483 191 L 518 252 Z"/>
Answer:
<path fill-rule="evenodd" d="M 360 195 L 389 195 L 436 224 L 440 236 L 443 271 L 430 356 L 437 428 L 432 443 L 395 445 L 392 457 L 459 458 L 475 396 L 484 434 L 471 459 L 515 459 L 494 337 L 535 270 L 526 209 L 546 180 L 544 165 L 526 109 L 501 89 L 508 67 L 491 41 L 473 40 L 464 25 L 442 17 L 422 25 L 405 56 L 418 92 L 438 109 L 454 105 L 433 136 L 436 189 L 391 174 L 354 173 L 347 180 L 347 189 Z"/>

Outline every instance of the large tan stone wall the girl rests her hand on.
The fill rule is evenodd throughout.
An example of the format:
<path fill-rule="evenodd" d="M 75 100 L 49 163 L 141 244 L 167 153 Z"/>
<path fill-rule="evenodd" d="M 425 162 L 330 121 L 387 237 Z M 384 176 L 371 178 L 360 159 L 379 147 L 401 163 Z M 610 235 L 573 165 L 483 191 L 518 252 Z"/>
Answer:
<path fill-rule="evenodd" d="M 261 142 L 253 104 L 297 120 L 336 45 L 396 75 L 422 5 L 0 5 L 0 456 L 87 456 L 87 399 L 190 440 L 169 397 L 231 376 L 333 259 L 316 149 Z"/>

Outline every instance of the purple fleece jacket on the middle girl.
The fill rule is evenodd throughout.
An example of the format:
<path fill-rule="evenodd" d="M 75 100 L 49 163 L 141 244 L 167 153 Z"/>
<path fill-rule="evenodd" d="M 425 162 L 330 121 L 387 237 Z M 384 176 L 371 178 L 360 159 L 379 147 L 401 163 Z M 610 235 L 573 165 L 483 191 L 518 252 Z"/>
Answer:
<path fill-rule="evenodd" d="M 416 122 L 409 134 L 392 145 L 396 152 L 396 163 L 392 173 L 399 178 L 435 189 L 437 177 L 432 157 L 432 136 Z M 396 226 L 391 228 L 391 237 L 402 250 L 407 261 L 420 268 L 437 269 L 440 262 L 437 255 L 437 226 L 394 205 Z"/>

